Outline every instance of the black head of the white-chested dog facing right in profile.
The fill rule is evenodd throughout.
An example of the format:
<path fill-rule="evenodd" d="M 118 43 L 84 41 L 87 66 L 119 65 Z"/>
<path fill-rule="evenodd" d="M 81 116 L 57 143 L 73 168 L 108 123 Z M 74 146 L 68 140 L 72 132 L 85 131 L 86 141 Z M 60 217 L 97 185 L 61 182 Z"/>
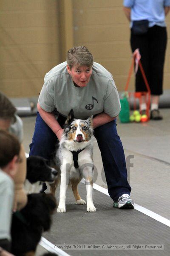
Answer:
<path fill-rule="evenodd" d="M 53 182 L 57 178 L 57 170 L 48 165 L 48 161 L 39 156 L 27 158 L 27 176 L 30 183 L 37 181 Z"/>

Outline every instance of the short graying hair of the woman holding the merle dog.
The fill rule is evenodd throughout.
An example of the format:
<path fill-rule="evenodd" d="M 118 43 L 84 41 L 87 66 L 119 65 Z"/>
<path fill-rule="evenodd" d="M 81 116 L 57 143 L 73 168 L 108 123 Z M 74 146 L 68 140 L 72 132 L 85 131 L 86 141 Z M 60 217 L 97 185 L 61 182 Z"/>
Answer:
<path fill-rule="evenodd" d="M 73 66 L 81 67 L 93 66 L 93 55 L 89 52 L 88 48 L 85 46 L 76 46 L 68 50 L 67 52 L 67 64 L 70 69 Z"/>

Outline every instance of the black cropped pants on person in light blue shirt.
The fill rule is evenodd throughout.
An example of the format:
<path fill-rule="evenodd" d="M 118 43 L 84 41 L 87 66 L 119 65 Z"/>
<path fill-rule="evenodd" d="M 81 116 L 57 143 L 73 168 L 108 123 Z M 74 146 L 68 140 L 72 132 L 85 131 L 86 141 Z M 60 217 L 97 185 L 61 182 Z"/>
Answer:
<path fill-rule="evenodd" d="M 164 57 L 167 45 L 166 27 L 153 26 L 144 35 L 130 36 L 131 49 L 139 48 L 141 63 L 152 95 L 161 95 L 163 87 Z M 140 69 L 136 73 L 136 91 L 147 91 Z"/>

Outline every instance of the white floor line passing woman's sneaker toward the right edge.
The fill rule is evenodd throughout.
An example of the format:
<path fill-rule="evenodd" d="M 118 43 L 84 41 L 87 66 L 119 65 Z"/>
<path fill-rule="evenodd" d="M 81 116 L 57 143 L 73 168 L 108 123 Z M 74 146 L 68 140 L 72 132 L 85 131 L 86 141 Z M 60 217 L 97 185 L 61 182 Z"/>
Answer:
<path fill-rule="evenodd" d="M 84 183 L 84 182 L 83 182 Z M 105 189 L 97 184 L 94 183 L 94 189 L 98 190 L 99 192 L 102 192 L 104 193 L 105 195 L 108 195 L 108 189 Z M 161 222 L 162 224 L 165 224 L 166 226 L 170 227 L 170 220 L 168 220 L 167 218 L 164 218 L 162 217 L 161 215 L 155 213 L 155 212 L 152 212 L 142 206 L 140 206 L 139 204 L 135 204 L 135 209 L 139 212 L 142 212 L 144 213 L 145 215 L 155 219 L 156 221 L 159 221 Z"/>

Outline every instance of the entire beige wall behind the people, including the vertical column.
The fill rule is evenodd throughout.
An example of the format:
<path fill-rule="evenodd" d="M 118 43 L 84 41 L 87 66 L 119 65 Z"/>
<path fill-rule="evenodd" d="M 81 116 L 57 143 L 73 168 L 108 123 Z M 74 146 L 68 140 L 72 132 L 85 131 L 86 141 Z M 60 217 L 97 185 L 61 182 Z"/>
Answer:
<path fill-rule="evenodd" d="M 65 60 L 67 48 L 86 45 L 94 60 L 125 87 L 131 63 L 129 24 L 122 0 L 1 0 L 0 91 L 38 96 L 45 73 Z M 71 14 L 73 17 L 71 17 Z M 170 35 L 170 15 L 167 17 Z M 71 38 L 73 33 L 73 38 Z M 170 42 L 164 88 L 170 88 Z M 130 89 L 134 88 L 134 78 Z"/>

